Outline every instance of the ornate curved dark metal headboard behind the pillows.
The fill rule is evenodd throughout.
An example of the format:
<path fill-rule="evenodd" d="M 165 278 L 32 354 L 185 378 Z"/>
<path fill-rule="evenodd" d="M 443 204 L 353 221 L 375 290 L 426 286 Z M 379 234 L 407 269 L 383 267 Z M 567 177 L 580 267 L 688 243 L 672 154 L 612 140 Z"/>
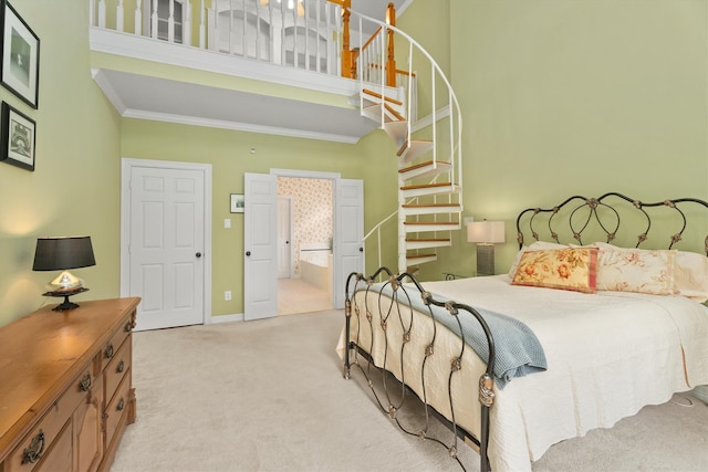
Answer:
<path fill-rule="evenodd" d="M 631 224 L 622 227 L 623 239 L 627 241 L 627 237 L 635 237 L 635 248 L 649 239 L 649 230 L 653 229 L 654 222 L 654 233 L 666 233 L 658 234 L 659 239 L 668 239 L 668 249 L 671 249 L 685 235 L 688 227 L 687 214 L 696 214 L 699 223 L 694 225 L 698 227 L 697 231 L 702 229 L 699 235 L 702 250 L 708 254 L 708 202 L 697 198 L 678 198 L 646 203 L 617 192 L 605 193 L 598 198 L 573 196 L 548 209 L 528 208 L 517 218 L 517 241 L 519 248 L 540 240 L 561 244 L 584 244 L 602 240 L 614 242 L 620 235 L 621 222 L 625 219 L 629 220 Z M 629 229 L 625 230 L 625 227 Z M 629 233 L 632 229 L 638 229 L 638 233 Z M 527 241 L 524 232 L 530 234 L 531 240 Z M 563 234 L 566 238 L 563 238 Z"/>

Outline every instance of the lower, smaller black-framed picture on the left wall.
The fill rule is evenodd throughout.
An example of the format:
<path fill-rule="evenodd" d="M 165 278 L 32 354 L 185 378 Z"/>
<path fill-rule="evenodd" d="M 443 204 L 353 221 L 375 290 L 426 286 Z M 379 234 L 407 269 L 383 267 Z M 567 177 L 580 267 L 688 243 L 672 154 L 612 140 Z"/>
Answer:
<path fill-rule="evenodd" d="M 2 102 L 2 119 L 0 120 L 0 160 L 28 170 L 34 170 L 34 144 L 37 125 L 29 116 L 23 115 Z"/>

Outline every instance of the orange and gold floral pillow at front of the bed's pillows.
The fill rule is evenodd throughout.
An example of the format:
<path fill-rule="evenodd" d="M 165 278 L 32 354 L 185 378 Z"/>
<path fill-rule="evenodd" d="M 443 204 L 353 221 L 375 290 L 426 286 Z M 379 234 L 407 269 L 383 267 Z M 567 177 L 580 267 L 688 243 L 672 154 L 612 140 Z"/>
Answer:
<path fill-rule="evenodd" d="M 597 252 L 597 248 L 525 251 L 511 283 L 595 293 Z"/>

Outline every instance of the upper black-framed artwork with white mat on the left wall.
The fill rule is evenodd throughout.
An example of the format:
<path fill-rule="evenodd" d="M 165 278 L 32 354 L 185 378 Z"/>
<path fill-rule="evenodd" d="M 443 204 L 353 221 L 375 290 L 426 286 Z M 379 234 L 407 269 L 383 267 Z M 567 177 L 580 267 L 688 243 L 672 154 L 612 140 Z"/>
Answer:
<path fill-rule="evenodd" d="M 0 81 L 32 108 L 38 107 L 40 76 L 40 40 L 14 11 L 8 0 L 0 0 Z"/>

